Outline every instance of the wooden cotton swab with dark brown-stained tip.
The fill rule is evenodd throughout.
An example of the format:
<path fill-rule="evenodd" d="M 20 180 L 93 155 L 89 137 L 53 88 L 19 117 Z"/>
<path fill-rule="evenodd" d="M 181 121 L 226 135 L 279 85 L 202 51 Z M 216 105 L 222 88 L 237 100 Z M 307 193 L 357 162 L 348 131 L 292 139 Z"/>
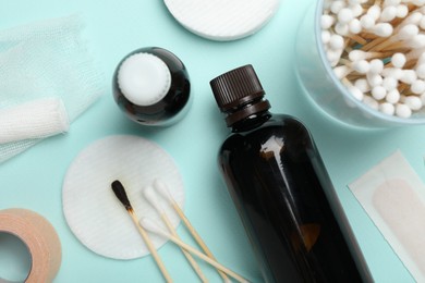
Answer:
<path fill-rule="evenodd" d="M 129 216 L 133 220 L 134 225 L 137 227 L 139 234 L 142 235 L 143 241 L 145 242 L 147 248 L 149 249 L 150 254 L 153 255 L 155 262 L 157 263 L 159 270 L 162 273 L 162 276 L 168 283 L 172 282 L 172 279 L 170 274 L 168 273 L 162 260 L 160 259 L 154 244 L 151 243 L 148 234 L 146 231 L 138 224 L 137 216 L 135 214 L 132 205 L 130 204 L 129 197 L 126 196 L 125 188 L 121 184 L 120 181 L 116 180 L 111 184 L 112 190 L 116 194 L 117 198 L 121 201 L 121 204 L 124 206 L 125 210 L 129 212 Z"/>

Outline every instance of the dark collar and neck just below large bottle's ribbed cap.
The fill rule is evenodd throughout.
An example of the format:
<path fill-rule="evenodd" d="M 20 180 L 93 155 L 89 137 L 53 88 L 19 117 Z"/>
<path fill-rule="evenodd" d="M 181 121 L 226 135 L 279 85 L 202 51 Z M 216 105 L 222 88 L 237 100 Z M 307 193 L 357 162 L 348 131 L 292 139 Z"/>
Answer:
<path fill-rule="evenodd" d="M 227 125 L 234 133 L 252 130 L 270 119 L 269 109 L 270 103 L 268 100 L 263 99 L 263 96 L 255 100 L 240 103 L 226 111 Z"/>

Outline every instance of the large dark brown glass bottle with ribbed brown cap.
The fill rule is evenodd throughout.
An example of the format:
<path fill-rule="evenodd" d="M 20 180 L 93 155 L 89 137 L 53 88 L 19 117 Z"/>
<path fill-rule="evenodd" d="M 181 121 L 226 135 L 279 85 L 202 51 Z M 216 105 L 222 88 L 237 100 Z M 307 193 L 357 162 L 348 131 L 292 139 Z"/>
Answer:
<path fill-rule="evenodd" d="M 210 85 L 232 130 L 219 165 L 265 281 L 372 281 L 306 127 L 269 112 L 252 65 Z"/>

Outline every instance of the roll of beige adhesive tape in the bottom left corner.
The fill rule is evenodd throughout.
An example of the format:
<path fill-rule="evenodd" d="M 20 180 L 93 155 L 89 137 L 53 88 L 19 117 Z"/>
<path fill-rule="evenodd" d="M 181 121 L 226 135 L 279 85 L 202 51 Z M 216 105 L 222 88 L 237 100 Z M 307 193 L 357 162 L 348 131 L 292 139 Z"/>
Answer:
<path fill-rule="evenodd" d="M 19 237 L 28 248 L 32 267 L 26 283 L 51 282 L 61 263 L 61 244 L 53 226 L 27 209 L 0 210 L 0 233 Z"/>

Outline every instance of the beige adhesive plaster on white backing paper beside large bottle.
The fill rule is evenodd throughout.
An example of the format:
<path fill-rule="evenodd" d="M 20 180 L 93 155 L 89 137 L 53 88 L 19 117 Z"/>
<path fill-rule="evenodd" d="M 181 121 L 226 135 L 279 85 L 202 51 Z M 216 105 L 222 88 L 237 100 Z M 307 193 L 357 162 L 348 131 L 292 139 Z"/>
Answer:
<path fill-rule="evenodd" d="M 417 282 L 425 281 L 425 185 L 394 152 L 349 185 Z"/>

